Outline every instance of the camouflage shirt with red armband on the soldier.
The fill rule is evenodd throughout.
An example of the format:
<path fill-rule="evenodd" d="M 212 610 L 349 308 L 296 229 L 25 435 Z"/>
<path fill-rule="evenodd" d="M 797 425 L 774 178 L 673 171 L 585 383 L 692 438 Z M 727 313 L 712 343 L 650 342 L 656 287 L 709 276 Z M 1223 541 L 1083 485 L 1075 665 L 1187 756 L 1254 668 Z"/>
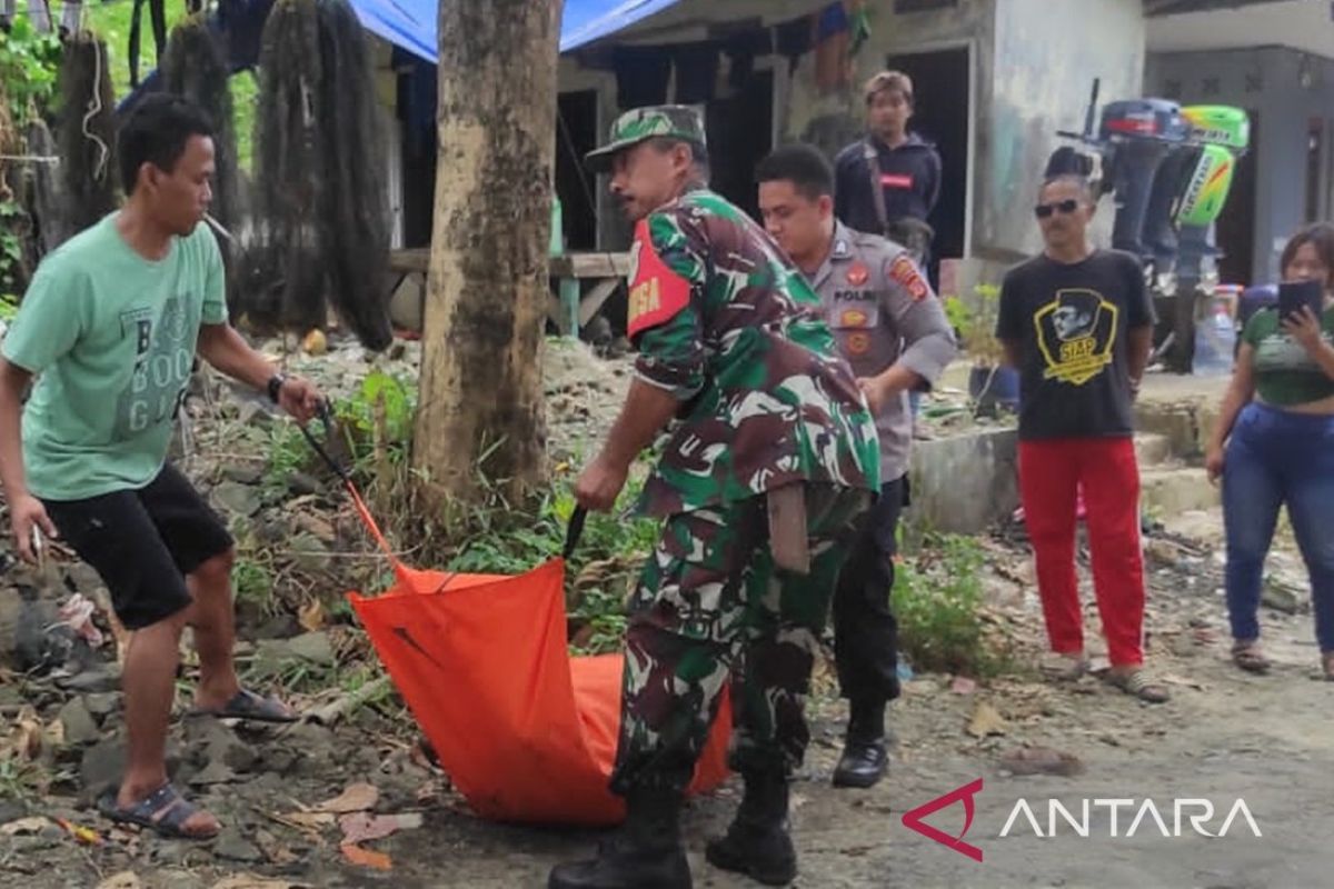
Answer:
<path fill-rule="evenodd" d="M 879 488 L 875 423 L 820 301 L 779 247 L 695 189 L 635 229 L 638 376 L 680 403 L 640 509 L 731 504 L 812 481 Z"/>

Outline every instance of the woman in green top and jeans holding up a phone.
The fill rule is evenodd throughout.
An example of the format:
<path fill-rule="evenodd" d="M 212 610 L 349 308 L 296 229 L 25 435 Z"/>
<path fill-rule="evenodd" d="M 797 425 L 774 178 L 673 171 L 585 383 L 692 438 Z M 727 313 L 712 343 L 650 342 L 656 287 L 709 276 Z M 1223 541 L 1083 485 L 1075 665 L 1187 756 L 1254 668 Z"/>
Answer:
<path fill-rule="evenodd" d="M 1206 465 L 1223 480 L 1233 661 L 1270 666 L 1258 612 L 1286 504 L 1311 580 L 1321 670 L 1334 681 L 1334 225 L 1294 235 L 1281 268 L 1279 304 L 1246 323 Z"/>

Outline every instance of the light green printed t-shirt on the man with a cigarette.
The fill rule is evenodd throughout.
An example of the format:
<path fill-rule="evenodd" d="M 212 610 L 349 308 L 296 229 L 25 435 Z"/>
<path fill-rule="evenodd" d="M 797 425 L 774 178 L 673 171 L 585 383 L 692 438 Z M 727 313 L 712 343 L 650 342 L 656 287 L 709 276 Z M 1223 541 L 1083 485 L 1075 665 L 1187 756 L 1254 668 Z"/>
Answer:
<path fill-rule="evenodd" d="M 23 413 L 32 493 L 84 500 L 152 481 L 199 327 L 225 321 L 223 260 L 204 225 L 149 261 L 112 213 L 51 253 L 0 349 L 37 376 Z"/>

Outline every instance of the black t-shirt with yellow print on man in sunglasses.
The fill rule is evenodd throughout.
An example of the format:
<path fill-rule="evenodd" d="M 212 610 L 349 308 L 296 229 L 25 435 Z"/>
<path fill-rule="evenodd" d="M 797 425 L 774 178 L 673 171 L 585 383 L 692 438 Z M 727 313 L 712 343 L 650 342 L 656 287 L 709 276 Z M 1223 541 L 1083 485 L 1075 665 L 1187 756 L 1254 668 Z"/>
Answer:
<path fill-rule="evenodd" d="M 1019 437 L 1133 435 L 1126 332 L 1154 320 L 1130 253 L 1094 251 L 1070 264 L 1038 256 L 1011 269 L 1000 285 L 996 337 L 1022 349 Z"/>

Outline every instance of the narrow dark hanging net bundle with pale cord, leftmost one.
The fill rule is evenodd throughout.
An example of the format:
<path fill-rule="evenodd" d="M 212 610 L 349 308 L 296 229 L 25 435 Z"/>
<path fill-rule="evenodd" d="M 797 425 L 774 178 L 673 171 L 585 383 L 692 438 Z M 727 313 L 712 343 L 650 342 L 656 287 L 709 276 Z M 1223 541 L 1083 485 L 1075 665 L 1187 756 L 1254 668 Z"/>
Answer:
<path fill-rule="evenodd" d="M 107 44 L 81 31 L 65 43 L 60 63 L 56 144 L 69 233 L 116 209 L 116 97 Z"/>

